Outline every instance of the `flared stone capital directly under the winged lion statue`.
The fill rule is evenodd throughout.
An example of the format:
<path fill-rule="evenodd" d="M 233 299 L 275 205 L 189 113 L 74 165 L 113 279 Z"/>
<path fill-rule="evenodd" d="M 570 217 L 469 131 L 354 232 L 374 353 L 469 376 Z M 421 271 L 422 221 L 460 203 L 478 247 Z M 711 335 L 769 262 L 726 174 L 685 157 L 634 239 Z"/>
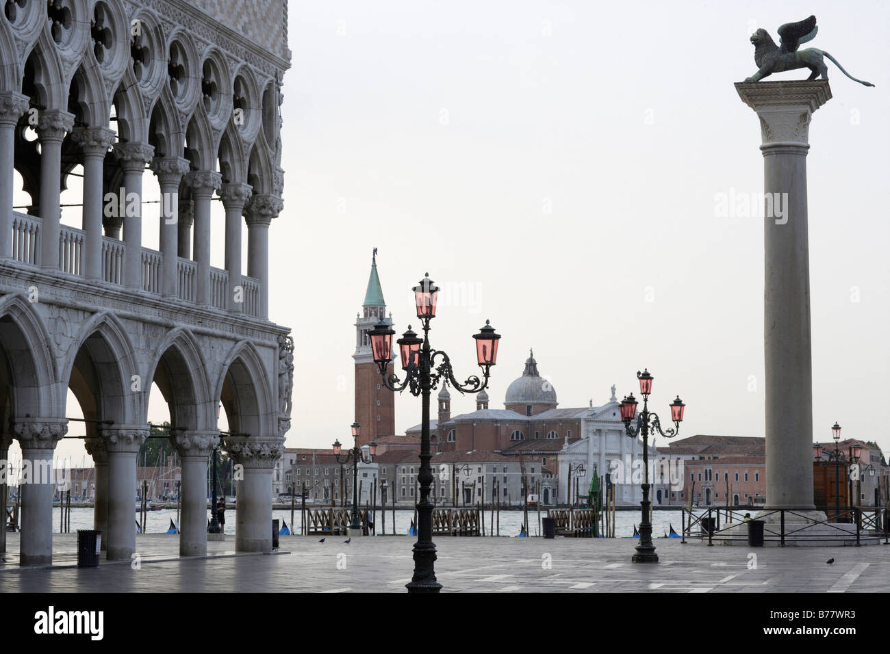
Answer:
<path fill-rule="evenodd" d="M 813 111 L 831 99 L 828 80 L 736 82 L 739 97 L 760 118 L 763 146 L 808 146 Z"/>

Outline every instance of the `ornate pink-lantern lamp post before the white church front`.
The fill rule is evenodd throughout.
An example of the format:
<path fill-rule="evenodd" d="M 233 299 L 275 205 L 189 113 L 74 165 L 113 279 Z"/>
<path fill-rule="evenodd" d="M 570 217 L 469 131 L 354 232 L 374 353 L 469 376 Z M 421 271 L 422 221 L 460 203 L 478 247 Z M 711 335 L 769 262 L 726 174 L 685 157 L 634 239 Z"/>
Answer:
<path fill-rule="evenodd" d="M 683 422 L 683 412 L 685 404 L 680 400 L 680 396 L 676 396 L 676 400 L 670 404 L 671 420 L 674 422 L 674 429 L 668 429 L 666 432 L 661 430 L 659 416 L 649 411 L 649 394 L 652 392 L 652 375 L 648 369 L 644 369 L 641 373 L 636 371 L 636 378 L 640 381 L 640 393 L 643 395 L 643 412 L 636 416 L 636 399 L 631 393 L 624 400 L 621 400 L 619 409 L 621 411 L 621 420 L 624 422 L 625 432 L 630 438 L 635 439 L 637 435 L 643 434 L 643 501 L 640 506 L 643 511 L 640 520 L 640 543 L 636 545 L 636 553 L 631 557 L 631 561 L 635 563 L 658 563 L 659 555 L 655 553 L 655 545 L 652 544 L 652 524 L 649 518 L 650 501 L 649 501 L 649 432 L 659 432 L 666 439 L 674 438 L 680 431 L 680 423 Z M 636 416 L 636 426 L 630 426 L 631 421 Z"/>

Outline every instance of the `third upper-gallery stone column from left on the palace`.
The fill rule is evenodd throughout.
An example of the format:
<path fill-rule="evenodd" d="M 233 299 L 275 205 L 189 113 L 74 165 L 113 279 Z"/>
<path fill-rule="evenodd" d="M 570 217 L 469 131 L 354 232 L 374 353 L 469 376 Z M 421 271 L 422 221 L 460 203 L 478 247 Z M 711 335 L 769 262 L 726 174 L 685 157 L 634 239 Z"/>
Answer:
<path fill-rule="evenodd" d="M 78 127 L 71 133 L 84 157 L 84 217 L 86 232 L 82 267 L 86 279 L 102 277 L 102 165 L 115 133 L 104 127 Z"/>

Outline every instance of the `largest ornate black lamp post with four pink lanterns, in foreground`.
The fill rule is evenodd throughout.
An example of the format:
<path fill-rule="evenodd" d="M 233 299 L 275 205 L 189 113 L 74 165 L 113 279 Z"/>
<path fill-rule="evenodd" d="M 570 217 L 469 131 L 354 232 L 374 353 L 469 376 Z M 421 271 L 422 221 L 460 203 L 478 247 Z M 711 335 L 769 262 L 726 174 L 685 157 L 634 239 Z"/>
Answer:
<path fill-rule="evenodd" d="M 436 581 L 434 562 L 436 546 L 433 544 L 433 504 L 430 502 L 430 485 L 433 482 L 433 470 L 430 467 L 430 392 L 438 384 L 450 384 L 458 392 L 481 392 L 489 384 L 490 367 L 498 358 L 498 339 L 494 327 L 485 321 L 485 327 L 474 334 L 476 340 L 476 357 L 482 368 L 482 379 L 471 375 L 463 385 L 458 384 L 454 377 L 448 354 L 430 347 L 430 320 L 436 315 L 436 302 L 439 288 L 433 284 L 427 273 L 414 291 L 417 304 L 417 318 L 420 319 L 424 337 L 420 338 L 408 331 L 396 342 L 401 355 L 401 368 L 405 371 L 405 380 L 400 381 L 397 375 L 386 376 L 386 366 L 392 360 L 392 335 L 395 334 L 383 320 L 378 322 L 369 333 L 371 351 L 374 361 L 380 368 L 384 386 L 392 392 L 402 392 L 408 388 L 412 395 L 422 399 L 421 431 L 420 431 L 420 497 L 417 501 L 417 543 L 414 545 L 414 577 L 406 585 L 409 593 L 438 593 L 441 584 Z M 436 359 L 441 359 L 436 363 Z"/>

